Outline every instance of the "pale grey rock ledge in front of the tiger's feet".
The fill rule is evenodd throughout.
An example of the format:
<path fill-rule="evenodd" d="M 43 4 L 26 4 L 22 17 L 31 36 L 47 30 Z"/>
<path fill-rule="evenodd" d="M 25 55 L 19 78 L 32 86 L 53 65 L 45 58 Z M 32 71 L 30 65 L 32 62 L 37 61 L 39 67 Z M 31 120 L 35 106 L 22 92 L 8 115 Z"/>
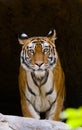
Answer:
<path fill-rule="evenodd" d="M 0 114 L 0 130 L 69 130 L 69 128 L 60 121 Z"/>

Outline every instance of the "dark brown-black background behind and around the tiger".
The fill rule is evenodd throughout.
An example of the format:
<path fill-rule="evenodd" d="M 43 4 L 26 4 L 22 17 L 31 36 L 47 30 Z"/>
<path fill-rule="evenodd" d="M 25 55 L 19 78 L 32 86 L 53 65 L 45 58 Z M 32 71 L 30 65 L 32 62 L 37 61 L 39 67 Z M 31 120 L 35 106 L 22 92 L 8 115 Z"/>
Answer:
<path fill-rule="evenodd" d="M 0 112 L 21 115 L 17 35 L 55 28 L 66 77 L 65 107 L 82 105 L 82 0 L 0 0 Z"/>

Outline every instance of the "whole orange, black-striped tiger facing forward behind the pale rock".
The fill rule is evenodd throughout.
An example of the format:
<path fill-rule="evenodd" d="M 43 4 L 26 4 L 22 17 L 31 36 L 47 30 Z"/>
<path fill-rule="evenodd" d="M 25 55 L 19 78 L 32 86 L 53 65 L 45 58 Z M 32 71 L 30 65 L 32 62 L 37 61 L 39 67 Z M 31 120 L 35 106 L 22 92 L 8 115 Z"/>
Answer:
<path fill-rule="evenodd" d="M 65 76 L 55 46 L 56 31 L 47 36 L 21 33 L 19 91 L 25 117 L 59 120 L 65 93 Z"/>

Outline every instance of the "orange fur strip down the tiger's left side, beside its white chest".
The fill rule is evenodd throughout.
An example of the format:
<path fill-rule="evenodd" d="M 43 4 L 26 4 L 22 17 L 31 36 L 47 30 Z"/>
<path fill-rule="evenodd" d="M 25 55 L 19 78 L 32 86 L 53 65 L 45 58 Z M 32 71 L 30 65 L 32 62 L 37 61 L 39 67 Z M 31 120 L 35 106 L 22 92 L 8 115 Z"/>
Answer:
<path fill-rule="evenodd" d="M 20 90 L 20 97 L 21 97 L 22 113 L 23 113 L 23 116 L 25 117 L 33 117 L 28 107 L 29 104 L 25 96 L 25 89 L 26 89 L 26 73 L 25 73 L 25 70 L 20 66 L 19 90 Z"/>

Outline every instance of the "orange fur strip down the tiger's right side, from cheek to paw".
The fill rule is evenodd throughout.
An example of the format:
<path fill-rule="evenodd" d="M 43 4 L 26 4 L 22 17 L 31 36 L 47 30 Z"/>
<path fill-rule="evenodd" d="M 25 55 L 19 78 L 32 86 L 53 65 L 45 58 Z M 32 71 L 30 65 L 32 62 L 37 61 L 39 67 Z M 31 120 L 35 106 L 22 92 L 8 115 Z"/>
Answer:
<path fill-rule="evenodd" d="M 56 114 L 53 116 L 54 120 L 59 119 L 59 114 L 63 108 L 63 101 L 64 101 L 64 96 L 65 96 L 65 76 L 64 72 L 61 68 L 61 63 L 60 60 L 57 63 L 56 68 L 53 71 L 54 73 L 54 84 L 56 86 L 56 90 L 59 94 L 58 99 L 57 99 L 57 108 L 56 108 Z"/>

